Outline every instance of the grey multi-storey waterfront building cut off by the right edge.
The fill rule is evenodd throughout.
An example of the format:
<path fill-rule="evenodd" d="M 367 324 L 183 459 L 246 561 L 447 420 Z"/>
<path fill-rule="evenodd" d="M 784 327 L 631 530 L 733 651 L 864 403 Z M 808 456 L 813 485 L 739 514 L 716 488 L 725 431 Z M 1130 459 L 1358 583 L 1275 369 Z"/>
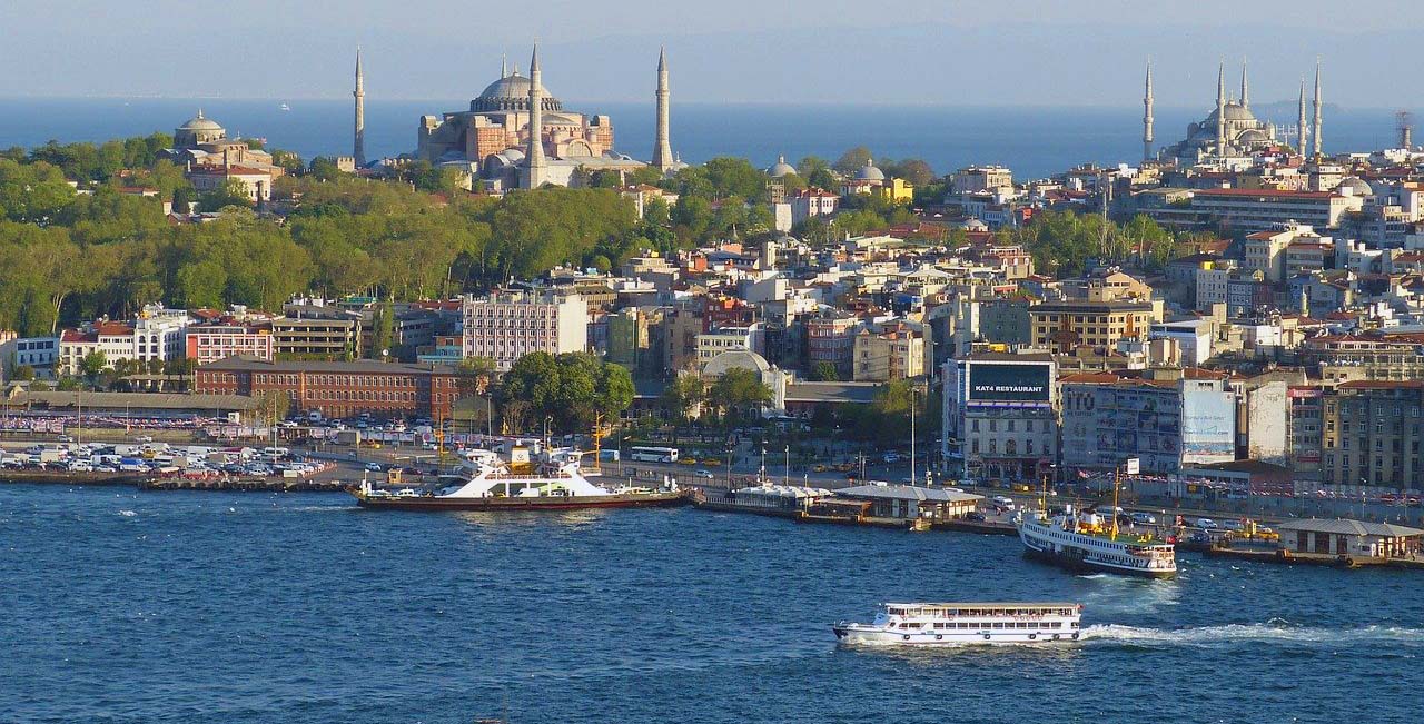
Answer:
<path fill-rule="evenodd" d="M 1357 380 L 1324 395 L 1321 481 L 1424 488 L 1424 381 Z"/>

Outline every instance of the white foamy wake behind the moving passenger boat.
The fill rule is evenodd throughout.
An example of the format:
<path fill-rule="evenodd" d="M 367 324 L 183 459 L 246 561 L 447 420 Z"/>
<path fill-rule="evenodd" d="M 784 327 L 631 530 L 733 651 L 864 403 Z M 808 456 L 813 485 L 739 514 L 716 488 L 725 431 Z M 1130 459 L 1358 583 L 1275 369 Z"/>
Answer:
<path fill-rule="evenodd" d="M 1380 646 L 1424 647 L 1424 629 L 1400 626 L 1361 626 L 1354 629 L 1329 629 L 1316 626 L 1294 626 L 1272 619 L 1266 623 L 1230 623 L 1225 626 L 1202 626 L 1198 629 L 1152 629 L 1142 626 L 1121 626 L 1115 623 L 1088 626 L 1082 637 L 1089 644 L 1118 644 L 1141 647 L 1222 647 L 1239 643 L 1330 644 L 1356 646 L 1373 643 Z"/>

